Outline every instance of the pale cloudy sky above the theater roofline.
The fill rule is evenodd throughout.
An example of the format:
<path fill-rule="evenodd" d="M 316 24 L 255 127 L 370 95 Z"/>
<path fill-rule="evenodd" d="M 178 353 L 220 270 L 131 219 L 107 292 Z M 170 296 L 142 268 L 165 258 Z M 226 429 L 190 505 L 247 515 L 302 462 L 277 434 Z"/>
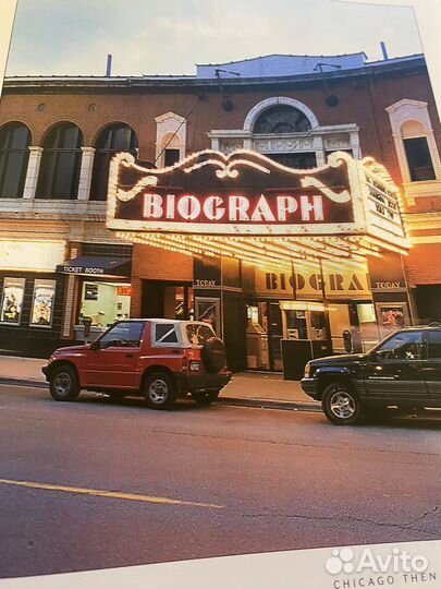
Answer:
<path fill-rule="evenodd" d="M 195 74 L 271 53 L 421 52 L 409 7 L 339 0 L 19 0 L 7 75 Z"/>

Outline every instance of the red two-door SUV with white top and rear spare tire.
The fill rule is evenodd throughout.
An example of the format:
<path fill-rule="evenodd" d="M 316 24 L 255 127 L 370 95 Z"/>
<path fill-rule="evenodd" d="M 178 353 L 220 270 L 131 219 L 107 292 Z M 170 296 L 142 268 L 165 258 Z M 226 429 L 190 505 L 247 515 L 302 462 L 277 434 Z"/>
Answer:
<path fill-rule="evenodd" d="M 120 321 L 91 344 L 60 348 L 42 372 L 56 400 L 74 400 L 86 388 L 144 395 L 156 409 L 188 393 L 208 405 L 231 378 L 224 345 L 209 324 L 157 318 Z"/>

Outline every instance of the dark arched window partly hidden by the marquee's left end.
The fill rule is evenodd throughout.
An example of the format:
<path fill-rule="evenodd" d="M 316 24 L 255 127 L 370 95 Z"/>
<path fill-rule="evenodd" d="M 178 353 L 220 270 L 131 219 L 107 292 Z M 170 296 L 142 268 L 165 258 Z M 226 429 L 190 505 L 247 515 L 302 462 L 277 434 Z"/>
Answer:
<path fill-rule="evenodd" d="M 120 152 L 137 157 L 138 139 L 128 124 L 115 123 L 101 131 L 95 148 L 90 201 L 106 201 L 111 158 Z"/>

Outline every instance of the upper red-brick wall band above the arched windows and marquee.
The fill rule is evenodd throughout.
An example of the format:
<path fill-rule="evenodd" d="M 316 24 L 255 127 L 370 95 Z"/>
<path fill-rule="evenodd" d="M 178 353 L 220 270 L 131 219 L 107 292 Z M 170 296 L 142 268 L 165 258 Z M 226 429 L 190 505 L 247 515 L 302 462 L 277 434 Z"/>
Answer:
<path fill-rule="evenodd" d="M 429 113 L 438 147 L 441 152 L 441 128 L 437 116 L 430 82 L 425 73 L 395 77 L 377 76 L 370 81 L 347 77 L 326 92 L 320 83 L 308 87 L 287 89 L 274 85 L 270 89 L 231 89 L 234 105 L 231 112 L 222 109 L 224 95 L 219 88 L 179 92 L 177 88 L 155 92 L 154 88 L 121 94 L 90 92 L 85 94 L 12 94 L 8 86 L 0 104 L 0 125 L 11 120 L 26 123 L 33 134 L 33 144 L 40 145 L 46 132 L 57 122 L 75 122 L 84 133 L 84 145 L 94 145 L 98 133 L 108 124 L 122 121 L 135 130 L 139 140 L 139 158 L 152 161 L 156 152 L 155 117 L 168 111 L 186 117 L 187 153 L 210 146 L 207 133 L 213 129 L 242 129 L 249 110 L 260 100 L 287 96 L 301 100 L 316 115 L 320 125 L 357 123 L 363 155 L 373 156 L 385 165 L 394 180 L 401 175 L 385 108 L 403 98 L 429 104 Z M 198 94 L 197 94 L 198 93 Z M 339 98 L 335 107 L 326 105 L 327 94 Z M 198 99 L 199 96 L 199 99 Z M 197 103 L 197 104 L 196 104 Z M 37 110 L 46 105 L 42 112 Z M 89 112 L 89 105 L 97 109 Z M 195 106 L 196 104 L 196 106 Z"/>

